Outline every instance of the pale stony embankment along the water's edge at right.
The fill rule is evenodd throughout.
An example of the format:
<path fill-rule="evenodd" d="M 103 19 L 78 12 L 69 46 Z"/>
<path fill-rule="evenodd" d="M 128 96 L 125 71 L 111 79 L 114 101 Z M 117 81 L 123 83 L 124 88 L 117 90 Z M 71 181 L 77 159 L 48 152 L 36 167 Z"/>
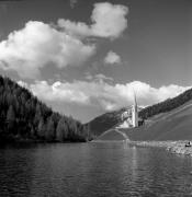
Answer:
<path fill-rule="evenodd" d="M 185 147 L 189 141 L 133 141 L 132 144 L 137 147 L 159 147 L 177 153 L 192 157 L 192 147 Z"/>

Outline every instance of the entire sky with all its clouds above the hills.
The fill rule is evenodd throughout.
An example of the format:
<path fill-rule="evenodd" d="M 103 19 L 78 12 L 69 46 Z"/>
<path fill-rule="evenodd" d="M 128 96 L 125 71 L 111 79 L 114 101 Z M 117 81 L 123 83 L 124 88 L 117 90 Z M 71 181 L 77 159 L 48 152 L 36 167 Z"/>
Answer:
<path fill-rule="evenodd" d="M 0 1 L 0 74 L 87 123 L 192 86 L 191 0 Z"/>

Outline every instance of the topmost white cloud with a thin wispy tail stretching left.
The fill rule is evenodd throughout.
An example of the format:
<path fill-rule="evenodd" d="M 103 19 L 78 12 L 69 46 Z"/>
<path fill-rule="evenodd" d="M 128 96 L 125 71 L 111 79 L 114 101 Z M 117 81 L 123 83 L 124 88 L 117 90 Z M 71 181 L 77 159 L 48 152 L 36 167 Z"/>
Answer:
<path fill-rule="evenodd" d="M 91 25 L 65 19 L 58 20 L 58 25 L 76 36 L 97 36 L 114 39 L 127 27 L 127 13 L 128 8 L 125 5 L 100 2 L 94 4 Z"/>

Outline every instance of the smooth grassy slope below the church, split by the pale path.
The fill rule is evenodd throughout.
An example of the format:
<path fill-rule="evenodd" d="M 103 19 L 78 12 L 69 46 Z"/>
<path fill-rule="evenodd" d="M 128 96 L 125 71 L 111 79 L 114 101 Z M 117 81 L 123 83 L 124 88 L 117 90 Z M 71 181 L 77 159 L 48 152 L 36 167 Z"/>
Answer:
<path fill-rule="evenodd" d="M 169 113 L 158 114 L 145 126 L 122 129 L 131 140 L 189 140 L 192 139 L 192 101 Z M 115 131 L 103 135 L 100 140 L 121 140 Z"/>

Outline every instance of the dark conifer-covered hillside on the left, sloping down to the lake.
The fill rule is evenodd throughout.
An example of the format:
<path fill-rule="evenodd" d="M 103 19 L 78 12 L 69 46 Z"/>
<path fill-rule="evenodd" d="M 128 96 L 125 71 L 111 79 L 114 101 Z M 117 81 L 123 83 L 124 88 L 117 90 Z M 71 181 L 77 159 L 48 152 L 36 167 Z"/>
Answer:
<path fill-rule="evenodd" d="M 80 121 L 53 112 L 29 90 L 0 77 L 0 142 L 86 141 L 87 137 Z"/>

